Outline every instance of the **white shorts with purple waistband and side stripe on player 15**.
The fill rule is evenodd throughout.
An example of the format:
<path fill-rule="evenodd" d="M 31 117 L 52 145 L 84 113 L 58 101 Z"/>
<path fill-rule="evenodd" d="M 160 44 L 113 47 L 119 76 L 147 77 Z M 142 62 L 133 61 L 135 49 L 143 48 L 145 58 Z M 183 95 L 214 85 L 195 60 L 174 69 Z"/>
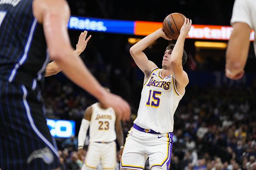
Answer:
<path fill-rule="evenodd" d="M 127 136 L 121 168 L 143 170 L 149 158 L 150 170 L 154 167 L 169 170 L 173 133 L 159 134 L 134 124 Z"/>

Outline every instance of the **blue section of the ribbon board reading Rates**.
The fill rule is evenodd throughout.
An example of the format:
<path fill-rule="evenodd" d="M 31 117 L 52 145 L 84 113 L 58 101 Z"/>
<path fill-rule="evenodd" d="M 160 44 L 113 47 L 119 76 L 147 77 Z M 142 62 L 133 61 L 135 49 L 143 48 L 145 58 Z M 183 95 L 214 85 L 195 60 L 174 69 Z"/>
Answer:
<path fill-rule="evenodd" d="M 134 34 L 134 21 L 71 16 L 68 23 L 68 28 L 71 30 Z"/>

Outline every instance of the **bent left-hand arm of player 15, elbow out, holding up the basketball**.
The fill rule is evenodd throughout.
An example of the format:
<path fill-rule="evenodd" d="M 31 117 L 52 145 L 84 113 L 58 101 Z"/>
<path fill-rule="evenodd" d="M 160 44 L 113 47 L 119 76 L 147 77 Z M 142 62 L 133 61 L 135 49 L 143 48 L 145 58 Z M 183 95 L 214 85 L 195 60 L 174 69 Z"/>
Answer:
<path fill-rule="evenodd" d="M 156 64 L 148 60 L 147 56 L 142 51 L 161 36 L 161 30 L 156 30 L 155 32 L 141 39 L 138 43 L 134 44 L 130 49 L 132 58 L 134 59 L 140 70 L 144 72 L 145 76 L 148 76 L 150 74 L 150 71 L 153 68 L 156 68 Z M 165 36 L 165 39 L 171 40 L 167 36 Z"/>

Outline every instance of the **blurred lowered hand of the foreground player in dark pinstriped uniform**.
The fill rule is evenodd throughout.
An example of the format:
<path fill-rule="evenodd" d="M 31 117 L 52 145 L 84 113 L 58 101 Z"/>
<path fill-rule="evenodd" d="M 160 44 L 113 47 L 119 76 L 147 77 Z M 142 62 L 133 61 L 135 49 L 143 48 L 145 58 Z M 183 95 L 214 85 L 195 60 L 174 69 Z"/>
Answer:
<path fill-rule="evenodd" d="M 106 93 L 103 94 L 99 100 L 100 103 L 104 104 L 105 106 L 112 107 L 116 111 L 117 118 L 119 120 L 130 120 L 131 107 L 124 99 L 122 99 L 122 97 L 106 91 Z"/>

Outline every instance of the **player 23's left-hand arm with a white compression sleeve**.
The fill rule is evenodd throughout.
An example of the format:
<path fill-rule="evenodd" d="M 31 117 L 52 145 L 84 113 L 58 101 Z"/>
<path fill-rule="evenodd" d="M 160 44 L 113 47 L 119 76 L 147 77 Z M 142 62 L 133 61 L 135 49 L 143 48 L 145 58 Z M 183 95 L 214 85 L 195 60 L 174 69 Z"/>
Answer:
<path fill-rule="evenodd" d="M 84 118 L 81 122 L 81 126 L 78 132 L 78 152 L 77 152 L 77 158 L 80 161 L 83 161 L 85 151 L 84 151 L 84 141 L 86 139 L 87 130 L 90 125 L 91 121 L 91 115 L 92 115 L 93 109 L 92 106 L 87 107 L 87 109 L 84 112 Z"/>

